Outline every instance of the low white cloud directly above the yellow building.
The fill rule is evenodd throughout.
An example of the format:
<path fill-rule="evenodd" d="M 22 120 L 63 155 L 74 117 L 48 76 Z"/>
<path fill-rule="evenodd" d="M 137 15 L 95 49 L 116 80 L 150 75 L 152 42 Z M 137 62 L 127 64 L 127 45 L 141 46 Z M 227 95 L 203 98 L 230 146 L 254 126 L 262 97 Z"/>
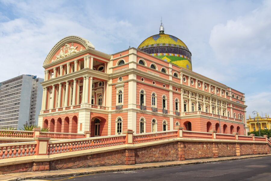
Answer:
<path fill-rule="evenodd" d="M 262 116 L 261 113 L 263 113 L 264 117 L 265 114 L 271 116 L 271 92 L 260 92 L 247 95 L 246 105 L 248 106 L 246 109 L 247 119 L 249 114 L 253 117 L 253 111 L 260 113 L 260 116 Z"/>

